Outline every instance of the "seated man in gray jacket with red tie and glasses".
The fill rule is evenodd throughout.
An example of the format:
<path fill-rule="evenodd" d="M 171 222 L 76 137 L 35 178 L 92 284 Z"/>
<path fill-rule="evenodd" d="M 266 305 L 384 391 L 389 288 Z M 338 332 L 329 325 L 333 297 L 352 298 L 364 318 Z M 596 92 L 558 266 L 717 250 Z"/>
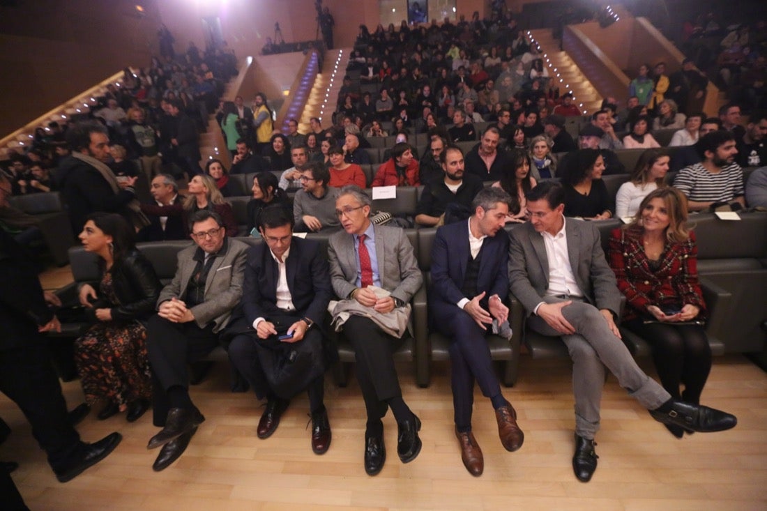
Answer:
<path fill-rule="evenodd" d="M 370 223 L 370 197 L 359 186 L 344 186 L 335 204 L 345 232 L 330 239 L 331 282 L 344 301 L 341 305 L 351 312 L 344 322 L 344 334 L 354 347 L 357 381 L 367 410 L 365 471 L 374 476 L 386 460 L 381 419 L 389 408 L 397 419 L 400 460 L 415 460 L 421 450 L 421 423 L 402 398 L 394 368 L 393 354 L 403 335 L 387 333 L 381 323 L 394 320 L 399 323 L 398 331 L 404 331 L 410 314 L 408 302 L 421 287 L 423 276 L 405 232 Z"/>

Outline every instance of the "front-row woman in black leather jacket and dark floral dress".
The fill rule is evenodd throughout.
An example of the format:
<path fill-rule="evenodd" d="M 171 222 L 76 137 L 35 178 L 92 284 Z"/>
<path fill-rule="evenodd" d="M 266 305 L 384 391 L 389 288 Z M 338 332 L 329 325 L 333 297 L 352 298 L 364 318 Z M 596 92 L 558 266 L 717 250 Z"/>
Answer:
<path fill-rule="evenodd" d="M 153 314 L 162 285 L 122 216 L 94 213 L 79 237 L 98 255 L 101 278 L 98 291 L 95 283 L 80 288 L 80 302 L 96 322 L 75 341 L 77 372 L 87 403 L 106 401 L 100 420 L 127 410 L 133 422 L 149 407 L 152 392 L 141 321 Z"/>

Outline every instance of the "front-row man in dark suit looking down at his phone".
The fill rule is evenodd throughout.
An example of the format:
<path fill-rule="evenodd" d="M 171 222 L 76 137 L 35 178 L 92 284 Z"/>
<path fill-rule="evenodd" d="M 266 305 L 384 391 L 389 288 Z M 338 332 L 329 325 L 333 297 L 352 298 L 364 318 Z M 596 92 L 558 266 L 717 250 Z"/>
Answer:
<path fill-rule="evenodd" d="M 292 397 L 308 392 L 311 449 L 324 454 L 331 443 L 323 403 L 326 360 L 321 328 L 333 295 L 328 258 L 320 244 L 293 237 L 293 218 L 282 206 L 262 210 L 258 230 L 265 243 L 251 247 L 245 264 L 242 314 L 229 360 L 266 408 L 258 438 L 277 430 Z M 316 324 L 316 325 L 315 325 Z M 281 368 L 281 369 L 275 369 Z"/>

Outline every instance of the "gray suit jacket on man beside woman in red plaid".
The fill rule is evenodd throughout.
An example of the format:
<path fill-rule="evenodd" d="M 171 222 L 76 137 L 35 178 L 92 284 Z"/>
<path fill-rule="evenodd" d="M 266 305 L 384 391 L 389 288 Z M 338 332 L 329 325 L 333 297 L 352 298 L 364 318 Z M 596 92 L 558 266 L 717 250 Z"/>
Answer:
<path fill-rule="evenodd" d="M 615 274 L 607 265 L 599 231 L 593 223 L 568 218 L 565 221 L 568 259 L 575 282 L 584 292 L 584 300 L 596 308 L 607 308 L 615 315 L 621 311 L 621 292 Z M 509 244 L 509 288 L 522 302 L 527 315 L 543 301 L 548 290 L 548 256 L 543 236 L 524 223 L 512 229 Z"/>

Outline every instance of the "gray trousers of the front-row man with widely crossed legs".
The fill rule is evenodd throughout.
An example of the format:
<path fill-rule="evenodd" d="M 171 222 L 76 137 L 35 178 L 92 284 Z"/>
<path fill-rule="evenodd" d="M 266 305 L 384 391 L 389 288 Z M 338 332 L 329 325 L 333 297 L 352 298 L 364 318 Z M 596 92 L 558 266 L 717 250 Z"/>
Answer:
<path fill-rule="evenodd" d="M 546 303 L 566 302 L 555 296 L 542 299 Z M 647 410 L 654 410 L 670 400 L 670 394 L 637 366 L 628 348 L 613 334 L 594 305 L 581 302 L 578 298 L 568 299 L 573 302 L 562 308 L 562 315 L 577 333 L 561 335 L 536 315 L 528 318 L 527 325 L 539 334 L 560 336 L 568 347 L 573 360 L 575 433 L 591 440 L 599 430 L 605 367 L 617 377 L 618 384 Z"/>

